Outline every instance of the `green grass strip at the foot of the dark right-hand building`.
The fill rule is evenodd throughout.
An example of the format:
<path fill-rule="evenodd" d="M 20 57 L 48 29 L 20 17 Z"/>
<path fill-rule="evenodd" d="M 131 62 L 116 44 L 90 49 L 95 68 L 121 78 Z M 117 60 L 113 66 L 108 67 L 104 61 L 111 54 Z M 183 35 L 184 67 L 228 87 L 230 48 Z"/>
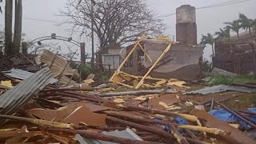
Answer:
<path fill-rule="evenodd" d="M 225 77 L 223 75 L 211 75 L 211 86 L 230 85 L 232 83 L 256 83 L 256 75 L 239 75 L 236 77 Z"/>

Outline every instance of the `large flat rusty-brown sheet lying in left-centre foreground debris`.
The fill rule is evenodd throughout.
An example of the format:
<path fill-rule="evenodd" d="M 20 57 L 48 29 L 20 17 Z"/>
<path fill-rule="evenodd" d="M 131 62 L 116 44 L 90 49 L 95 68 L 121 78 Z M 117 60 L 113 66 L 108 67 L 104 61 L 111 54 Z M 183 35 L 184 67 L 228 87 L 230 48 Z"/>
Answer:
<path fill-rule="evenodd" d="M 58 110 L 33 109 L 28 110 L 38 118 L 54 122 L 68 122 L 78 125 L 80 122 L 88 126 L 106 126 L 106 114 L 96 114 L 94 111 L 113 110 L 106 106 L 97 106 L 86 102 L 74 103 Z"/>

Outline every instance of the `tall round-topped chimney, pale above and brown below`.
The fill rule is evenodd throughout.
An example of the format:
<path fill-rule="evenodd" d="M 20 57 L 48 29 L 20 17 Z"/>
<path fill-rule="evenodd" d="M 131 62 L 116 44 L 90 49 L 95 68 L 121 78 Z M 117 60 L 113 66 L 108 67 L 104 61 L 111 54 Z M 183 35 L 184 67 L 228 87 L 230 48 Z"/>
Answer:
<path fill-rule="evenodd" d="M 176 41 L 183 44 L 197 44 L 195 7 L 182 5 L 176 9 Z"/>

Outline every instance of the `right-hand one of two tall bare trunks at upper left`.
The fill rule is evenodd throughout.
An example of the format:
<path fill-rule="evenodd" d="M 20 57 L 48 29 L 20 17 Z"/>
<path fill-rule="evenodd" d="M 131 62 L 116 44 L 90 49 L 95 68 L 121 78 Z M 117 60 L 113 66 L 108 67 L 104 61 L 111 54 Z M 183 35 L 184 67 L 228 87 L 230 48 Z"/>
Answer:
<path fill-rule="evenodd" d="M 22 0 L 15 0 L 15 23 L 14 23 L 14 51 L 17 54 L 20 50 L 22 40 Z"/>

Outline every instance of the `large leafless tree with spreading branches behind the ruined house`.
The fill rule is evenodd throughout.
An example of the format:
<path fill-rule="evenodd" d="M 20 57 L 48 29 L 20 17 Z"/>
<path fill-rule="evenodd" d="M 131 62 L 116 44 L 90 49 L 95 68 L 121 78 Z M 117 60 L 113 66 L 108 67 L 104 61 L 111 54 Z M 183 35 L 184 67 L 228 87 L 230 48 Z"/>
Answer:
<path fill-rule="evenodd" d="M 92 11 L 91 8 L 94 10 Z M 165 25 L 154 18 L 146 0 L 69 0 L 66 10 L 60 11 L 67 22 L 73 24 L 73 31 L 91 34 L 91 23 L 99 42 L 99 62 L 101 54 L 110 44 L 120 44 L 138 37 L 143 31 L 148 34 L 162 34 Z"/>

